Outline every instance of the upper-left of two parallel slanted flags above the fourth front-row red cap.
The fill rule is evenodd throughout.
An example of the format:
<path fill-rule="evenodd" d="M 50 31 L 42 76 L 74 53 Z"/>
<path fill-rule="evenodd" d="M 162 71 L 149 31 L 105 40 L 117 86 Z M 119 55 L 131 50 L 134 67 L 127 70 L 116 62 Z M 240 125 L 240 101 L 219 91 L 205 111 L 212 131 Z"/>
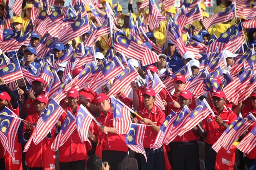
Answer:
<path fill-rule="evenodd" d="M 114 56 L 114 58 L 99 72 L 98 77 L 96 77 L 95 81 L 93 81 L 90 85 L 90 88 L 93 91 L 96 91 L 102 85 L 108 83 L 108 81 L 117 75 L 121 74 L 123 71 L 122 63 L 119 59 Z"/>

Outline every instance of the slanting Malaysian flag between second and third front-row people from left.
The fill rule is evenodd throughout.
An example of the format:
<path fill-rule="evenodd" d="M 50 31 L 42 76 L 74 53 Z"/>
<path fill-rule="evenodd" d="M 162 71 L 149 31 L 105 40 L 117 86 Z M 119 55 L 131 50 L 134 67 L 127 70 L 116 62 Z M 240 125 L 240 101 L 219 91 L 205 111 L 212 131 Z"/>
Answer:
<path fill-rule="evenodd" d="M 35 127 L 35 136 L 33 139 L 35 144 L 39 144 L 39 142 L 47 136 L 50 130 L 56 125 L 56 122 L 62 113 L 64 113 L 64 110 L 61 106 L 58 105 L 54 99 L 51 99 L 47 111 L 41 113 Z"/>

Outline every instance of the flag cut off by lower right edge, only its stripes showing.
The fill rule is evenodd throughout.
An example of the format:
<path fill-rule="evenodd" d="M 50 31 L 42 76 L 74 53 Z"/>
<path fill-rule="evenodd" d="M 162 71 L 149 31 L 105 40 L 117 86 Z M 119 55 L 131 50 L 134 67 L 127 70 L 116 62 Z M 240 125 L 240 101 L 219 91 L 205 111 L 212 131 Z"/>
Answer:
<path fill-rule="evenodd" d="M 236 146 L 243 153 L 250 153 L 256 145 L 256 126 Z"/>

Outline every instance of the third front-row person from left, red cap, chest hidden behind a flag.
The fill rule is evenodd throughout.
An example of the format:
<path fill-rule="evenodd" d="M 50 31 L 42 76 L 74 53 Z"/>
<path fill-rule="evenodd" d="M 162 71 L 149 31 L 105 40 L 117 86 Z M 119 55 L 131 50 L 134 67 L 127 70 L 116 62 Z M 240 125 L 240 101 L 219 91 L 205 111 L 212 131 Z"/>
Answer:
<path fill-rule="evenodd" d="M 61 124 L 67 117 L 68 111 L 75 117 L 80 106 L 78 105 L 79 93 L 73 88 L 67 92 L 68 107 L 59 119 Z M 85 160 L 88 159 L 87 150 L 91 147 L 87 142 L 81 142 L 77 130 L 70 135 L 67 141 L 59 149 L 59 163 L 61 170 L 84 170 Z"/>

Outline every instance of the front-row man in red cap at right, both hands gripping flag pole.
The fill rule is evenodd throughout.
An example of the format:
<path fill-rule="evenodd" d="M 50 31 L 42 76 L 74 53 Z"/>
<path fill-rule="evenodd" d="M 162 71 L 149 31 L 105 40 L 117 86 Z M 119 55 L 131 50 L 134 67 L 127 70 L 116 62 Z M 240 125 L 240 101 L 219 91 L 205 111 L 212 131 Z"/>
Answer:
<path fill-rule="evenodd" d="M 202 121 L 204 133 L 201 133 L 200 136 L 205 136 L 205 167 L 207 170 L 214 170 L 215 166 L 217 153 L 212 149 L 212 145 L 237 118 L 236 113 L 229 108 L 226 108 L 226 101 L 227 99 L 224 92 L 216 91 L 212 96 L 214 105 L 212 111 L 214 112 L 215 117 L 212 117 L 212 114 L 210 114 Z"/>

